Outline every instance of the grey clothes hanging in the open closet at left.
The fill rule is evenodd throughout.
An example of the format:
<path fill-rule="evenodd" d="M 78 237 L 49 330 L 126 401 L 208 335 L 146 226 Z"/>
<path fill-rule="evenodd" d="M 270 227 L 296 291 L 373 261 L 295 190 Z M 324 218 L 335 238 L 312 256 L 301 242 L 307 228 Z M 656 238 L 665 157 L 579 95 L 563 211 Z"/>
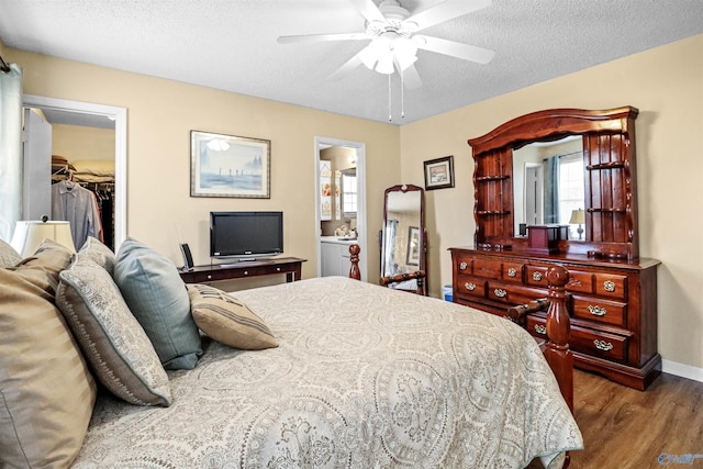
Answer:
<path fill-rule="evenodd" d="M 89 236 L 103 241 L 96 194 L 74 181 L 52 186 L 52 220 L 70 223 L 76 249 L 80 249 Z"/>

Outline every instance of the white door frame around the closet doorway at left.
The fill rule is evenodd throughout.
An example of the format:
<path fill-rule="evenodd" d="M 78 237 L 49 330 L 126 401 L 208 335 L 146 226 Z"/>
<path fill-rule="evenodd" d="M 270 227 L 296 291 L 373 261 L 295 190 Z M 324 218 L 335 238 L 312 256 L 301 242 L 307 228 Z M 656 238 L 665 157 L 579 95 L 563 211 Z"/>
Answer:
<path fill-rule="evenodd" d="M 83 101 L 23 94 L 27 108 L 102 115 L 114 121 L 114 250 L 127 235 L 127 110 Z"/>

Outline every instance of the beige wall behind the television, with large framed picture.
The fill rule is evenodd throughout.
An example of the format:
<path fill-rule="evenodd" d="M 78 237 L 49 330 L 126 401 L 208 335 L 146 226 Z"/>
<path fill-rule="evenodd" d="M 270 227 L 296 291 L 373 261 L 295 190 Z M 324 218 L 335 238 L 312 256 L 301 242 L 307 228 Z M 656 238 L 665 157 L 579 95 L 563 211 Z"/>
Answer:
<path fill-rule="evenodd" d="M 314 277 L 314 137 L 365 143 L 368 275 L 378 277 L 373 234 L 383 189 L 399 178 L 399 127 L 16 49 L 7 55 L 24 68 L 25 93 L 127 109 L 127 234 L 177 265 L 177 228 L 194 261 L 210 261 L 210 211 L 282 210 L 286 254 L 306 258 L 303 277 Z M 271 198 L 191 198 L 191 130 L 270 139 Z"/>

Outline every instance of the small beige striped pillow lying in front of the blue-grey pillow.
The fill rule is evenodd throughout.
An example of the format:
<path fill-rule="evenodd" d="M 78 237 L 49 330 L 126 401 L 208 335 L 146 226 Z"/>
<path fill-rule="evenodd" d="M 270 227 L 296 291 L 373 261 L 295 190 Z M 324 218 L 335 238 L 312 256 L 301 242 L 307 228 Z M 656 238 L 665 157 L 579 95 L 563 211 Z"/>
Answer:
<path fill-rule="evenodd" d="M 196 324 L 215 340 L 244 350 L 278 347 L 264 321 L 236 298 L 204 284 L 189 284 L 188 295 Z"/>

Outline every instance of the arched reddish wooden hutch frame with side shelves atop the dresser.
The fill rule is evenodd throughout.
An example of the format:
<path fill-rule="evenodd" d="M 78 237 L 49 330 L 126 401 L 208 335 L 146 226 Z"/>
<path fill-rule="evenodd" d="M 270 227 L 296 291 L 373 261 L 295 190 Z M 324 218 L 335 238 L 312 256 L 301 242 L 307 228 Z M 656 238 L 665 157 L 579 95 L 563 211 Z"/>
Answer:
<path fill-rule="evenodd" d="M 475 160 L 476 248 L 535 253 L 531 235 L 516 237 L 514 233 L 513 150 L 533 142 L 580 135 L 584 165 L 584 241 L 571 242 L 563 231 L 555 227 L 549 232 L 548 254 L 637 259 L 635 120 L 638 113 L 633 107 L 604 111 L 551 109 L 513 119 L 483 136 L 469 139 Z M 537 226 L 534 232 L 543 228 L 545 226 Z"/>

